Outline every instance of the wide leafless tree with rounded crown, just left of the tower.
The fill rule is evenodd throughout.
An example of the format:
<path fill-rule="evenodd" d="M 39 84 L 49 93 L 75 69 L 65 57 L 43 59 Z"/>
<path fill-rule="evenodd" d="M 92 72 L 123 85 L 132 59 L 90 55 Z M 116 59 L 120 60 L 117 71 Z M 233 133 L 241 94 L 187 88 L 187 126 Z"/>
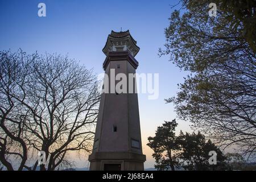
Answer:
<path fill-rule="evenodd" d="M 9 93 L 20 107 L 19 118 L 17 114 L 14 116 L 15 121 L 22 121 L 22 127 L 17 128 L 27 146 L 25 153 L 45 152 L 49 160 L 48 164 L 40 164 L 41 170 L 71 167 L 68 152 L 92 150 L 100 100 L 96 76 L 67 56 L 35 54 L 32 57 L 26 82 L 19 84 L 20 93 Z M 1 152 L 7 155 L 6 150 Z M 36 166 L 38 160 L 32 167 L 28 163 L 23 165 L 29 170 Z"/>

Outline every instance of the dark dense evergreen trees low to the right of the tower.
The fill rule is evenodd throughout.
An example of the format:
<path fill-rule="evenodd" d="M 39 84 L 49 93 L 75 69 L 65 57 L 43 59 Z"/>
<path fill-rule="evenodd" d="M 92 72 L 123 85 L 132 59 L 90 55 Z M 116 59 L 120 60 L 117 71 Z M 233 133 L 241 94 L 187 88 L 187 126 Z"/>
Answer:
<path fill-rule="evenodd" d="M 152 156 L 155 158 L 157 170 L 175 170 L 182 166 L 187 170 L 216 170 L 225 169 L 225 156 L 220 149 L 200 132 L 195 134 L 183 134 L 180 131 L 175 136 L 175 119 L 165 122 L 156 130 L 155 137 L 148 137 L 147 145 L 154 150 Z M 217 164 L 209 164 L 209 152 L 217 153 Z"/>

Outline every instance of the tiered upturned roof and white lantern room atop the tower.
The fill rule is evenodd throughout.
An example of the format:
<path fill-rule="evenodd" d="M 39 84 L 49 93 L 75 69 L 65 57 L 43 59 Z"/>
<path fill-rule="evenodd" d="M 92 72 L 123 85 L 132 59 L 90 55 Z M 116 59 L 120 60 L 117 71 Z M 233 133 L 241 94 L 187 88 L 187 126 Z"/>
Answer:
<path fill-rule="evenodd" d="M 129 30 L 120 32 L 112 30 L 102 51 L 106 56 L 110 51 L 129 51 L 131 55 L 135 56 L 139 52 L 139 47 Z"/>

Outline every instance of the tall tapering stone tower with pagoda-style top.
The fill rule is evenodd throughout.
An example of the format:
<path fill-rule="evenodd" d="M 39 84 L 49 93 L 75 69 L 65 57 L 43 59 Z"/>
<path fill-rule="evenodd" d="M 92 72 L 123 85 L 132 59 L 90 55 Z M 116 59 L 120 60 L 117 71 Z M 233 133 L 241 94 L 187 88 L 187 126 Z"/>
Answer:
<path fill-rule="evenodd" d="M 129 30 L 112 31 L 102 49 L 106 55 L 103 63 L 105 77 L 108 76 L 104 87 L 108 86 L 110 90 L 113 86 L 110 73 L 114 71 L 115 76 L 118 73 L 127 76 L 127 92 L 101 94 L 93 152 L 89 155 L 90 170 L 144 170 L 146 155 L 142 154 L 136 79 L 134 77 L 129 84 L 128 77 L 129 73 L 135 74 L 138 67 L 134 58 L 139 52 L 136 44 Z M 117 82 L 114 80 L 114 84 Z M 133 92 L 129 92 L 130 85 Z"/>

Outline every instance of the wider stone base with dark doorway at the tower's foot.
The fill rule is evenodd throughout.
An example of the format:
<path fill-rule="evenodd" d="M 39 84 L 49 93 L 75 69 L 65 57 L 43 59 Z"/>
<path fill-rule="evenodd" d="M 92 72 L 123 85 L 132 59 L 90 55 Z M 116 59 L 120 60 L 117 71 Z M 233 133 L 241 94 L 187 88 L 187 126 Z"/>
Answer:
<path fill-rule="evenodd" d="M 90 171 L 144 171 L 146 155 L 134 152 L 94 152 Z"/>

